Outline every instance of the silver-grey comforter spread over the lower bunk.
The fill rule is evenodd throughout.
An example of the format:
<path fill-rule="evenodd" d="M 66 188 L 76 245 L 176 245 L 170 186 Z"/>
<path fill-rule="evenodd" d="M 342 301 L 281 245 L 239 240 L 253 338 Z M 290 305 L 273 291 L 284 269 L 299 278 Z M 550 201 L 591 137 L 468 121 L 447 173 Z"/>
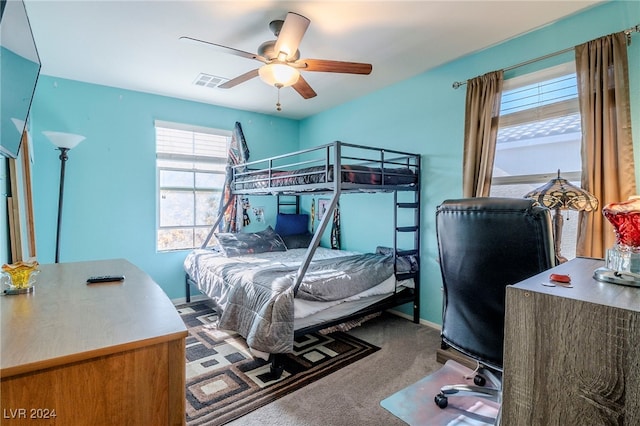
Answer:
<path fill-rule="evenodd" d="M 185 270 L 220 309 L 218 326 L 244 336 L 250 348 L 267 353 L 293 350 L 293 283 L 305 249 L 225 257 L 194 250 Z M 357 298 L 393 277 L 393 258 L 319 247 L 300 285 L 297 300 L 314 305 Z"/>

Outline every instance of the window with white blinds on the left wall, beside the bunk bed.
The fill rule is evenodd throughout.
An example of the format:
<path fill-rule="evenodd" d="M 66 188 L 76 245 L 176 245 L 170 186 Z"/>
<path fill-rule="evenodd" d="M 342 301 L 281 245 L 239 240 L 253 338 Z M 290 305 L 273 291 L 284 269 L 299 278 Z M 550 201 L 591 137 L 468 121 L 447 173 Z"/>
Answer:
<path fill-rule="evenodd" d="M 218 213 L 231 132 L 156 121 L 158 251 L 200 247 Z"/>

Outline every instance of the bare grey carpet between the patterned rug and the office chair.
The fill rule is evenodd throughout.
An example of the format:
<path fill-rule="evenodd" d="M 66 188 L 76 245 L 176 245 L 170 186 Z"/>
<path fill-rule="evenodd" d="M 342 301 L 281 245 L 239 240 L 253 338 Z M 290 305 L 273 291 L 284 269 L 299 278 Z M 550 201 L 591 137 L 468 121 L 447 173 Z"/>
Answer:
<path fill-rule="evenodd" d="M 439 331 L 383 314 L 349 334 L 381 349 L 228 424 L 406 425 L 382 408 L 380 401 L 442 366 L 436 362 Z"/>

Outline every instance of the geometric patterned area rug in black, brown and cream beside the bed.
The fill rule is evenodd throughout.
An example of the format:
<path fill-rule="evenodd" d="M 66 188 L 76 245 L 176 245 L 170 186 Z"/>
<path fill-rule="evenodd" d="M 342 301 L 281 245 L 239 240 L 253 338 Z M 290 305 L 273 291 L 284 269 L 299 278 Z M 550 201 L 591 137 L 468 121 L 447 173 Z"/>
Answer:
<path fill-rule="evenodd" d="M 379 348 L 346 333 L 297 338 L 279 379 L 268 361 L 253 358 L 242 336 L 215 327 L 207 301 L 176 306 L 186 340 L 187 425 L 223 425 L 312 383 Z"/>

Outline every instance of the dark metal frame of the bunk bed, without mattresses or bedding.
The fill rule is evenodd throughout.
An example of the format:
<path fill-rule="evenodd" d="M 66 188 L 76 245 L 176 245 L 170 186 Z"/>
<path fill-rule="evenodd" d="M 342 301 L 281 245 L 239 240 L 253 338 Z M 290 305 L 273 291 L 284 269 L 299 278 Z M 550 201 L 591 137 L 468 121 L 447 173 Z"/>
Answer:
<path fill-rule="evenodd" d="M 355 157 L 349 156 L 345 154 L 345 149 L 347 150 L 355 150 L 356 152 L 366 152 L 366 153 L 375 153 L 379 155 L 378 158 L 372 157 Z M 318 156 L 320 154 L 320 156 Z M 301 157 L 315 155 L 316 157 L 312 159 L 299 160 Z M 364 155 L 364 154 L 363 154 Z M 293 162 L 291 162 L 293 161 Z M 343 172 L 347 171 L 343 167 L 345 166 L 345 161 L 347 163 L 351 162 L 351 164 L 357 164 L 359 166 L 373 165 L 375 166 L 375 170 L 380 170 L 375 173 L 378 175 L 380 179 L 380 183 L 374 184 L 365 184 L 365 183 L 352 183 L 348 181 L 344 181 L 342 179 Z M 355 163 L 354 163 L 355 162 Z M 283 164 L 281 164 L 283 163 Z M 319 167 L 310 168 L 307 166 L 321 164 L 320 171 Z M 300 169 L 300 167 L 305 167 Z M 387 178 L 393 178 L 396 172 L 394 169 L 397 168 L 407 168 L 414 172 L 415 174 L 415 184 L 406 185 L 406 184 L 387 184 Z M 316 177 L 319 174 L 322 174 L 321 182 L 314 182 L 308 184 L 291 184 L 291 185 L 281 185 L 276 184 L 279 179 L 282 179 L 282 175 L 278 173 L 282 173 L 283 171 L 290 171 L 292 169 L 299 170 L 295 173 L 288 174 L 288 177 L 292 178 L 300 178 L 304 179 L 307 176 L 315 175 Z M 358 171 L 348 170 L 351 173 L 359 173 Z M 374 148 L 369 146 L 362 145 L 353 145 L 340 141 L 335 141 L 333 143 L 322 145 L 306 150 L 301 150 L 293 153 L 288 153 L 280 156 L 270 157 L 264 160 L 252 161 L 245 164 L 236 165 L 233 167 L 233 182 L 232 182 L 232 194 L 234 195 L 292 195 L 296 196 L 296 201 L 293 205 L 296 207 L 296 212 L 299 211 L 299 200 L 298 197 L 300 195 L 310 195 L 310 194 L 331 194 L 331 198 L 329 201 L 329 205 L 327 207 L 326 213 L 320 220 L 318 228 L 313 233 L 313 237 L 311 239 L 311 243 L 307 248 L 305 257 L 300 267 L 298 268 L 298 272 L 296 274 L 296 280 L 294 282 L 294 295 L 297 294 L 298 288 L 302 283 L 302 278 L 306 273 L 311 260 L 313 258 L 313 254 L 316 251 L 317 247 L 320 244 L 320 239 L 325 232 L 329 222 L 332 220 L 333 211 L 336 209 L 338 205 L 338 201 L 340 199 L 341 194 L 344 193 L 354 193 L 354 192 L 393 192 L 394 193 L 394 242 L 393 242 L 393 251 L 395 253 L 396 259 L 396 278 L 397 280 L 406 280 L 412 278 L 414 280 L 414 288 L 413 289 L 403 289 L 398 291 L 396 288 L 396 292 L 393 297 L 385 298 L 383 301 L 376 303 L 370 307 L 361 309 L 360 311 L 347 315 L 341 318 L 336 318 L 330 322 L 324 322 L 322 324 L 316 326 L 305 327 L 303 329 L 299 329 L 295 331 L 295 336 L 301 336 L 310 332 L 318 331 L 320 329 L 331 327 L 337 324 L 341 324 L 345 321 L 349 321 L 355 318 L 361 318 L 365 315 L 381 312 L 383 310 L 400 306 L 406 303 L 413 304 L 413 321 L 418 323 L 420 320 L 420 268 L 419 268 L 419 259 L 420 259 L 420 155 L 419 154 L 411 154 L 401 151 L 395 150 L 387 150 L 381 148 Z M 259 187 L 256 187 L 258 185 Z M 409 201 L 401 201 L 399 199 L 399 193 L 409 193 L 412 194 L 412 199 Z M 236 200 L 238 197 L 235 197 Z M 232 198 L 233 199 L 233 198 Z M 280 202 L 278 199 L 278 210 L 280 210 L 282 205 L 291 205 L 292 203 Z M 222 221 L 224 217 L 225 211 L 228 209 L 230 202 L 227 203 L 223 207 L 222 212 L 217 217 L 213 226 L 211 227 L 211 231 L 209 235 L 205 239 L 201 248 L 206 248 L 214 235 L 218 225 Z M 400 210 L 409 210 L 413 211 L 412 215 L 409 215 L 412 219 L 411 223 L 408 225 L 400 225 L 399 222 L 399 211 Z M 406 215 L 404 215 L 406 216 Z M 399 249 L 399 236 L 401 234 L 413 234 L 412 247 Z M 418 267 L 415 271 L 411 272 L 398 272 L 398 258 L 413 256 L 418 264 Z M 190 284 L 195 284 L 191 281 L 189 276 L 186 276 L 186 295 L 187 302 L 190 301 Z M 278 369 L 276 366 L 275 358 L 272 364 L 272 372 L 275 373 L 274 369 Z"/>

